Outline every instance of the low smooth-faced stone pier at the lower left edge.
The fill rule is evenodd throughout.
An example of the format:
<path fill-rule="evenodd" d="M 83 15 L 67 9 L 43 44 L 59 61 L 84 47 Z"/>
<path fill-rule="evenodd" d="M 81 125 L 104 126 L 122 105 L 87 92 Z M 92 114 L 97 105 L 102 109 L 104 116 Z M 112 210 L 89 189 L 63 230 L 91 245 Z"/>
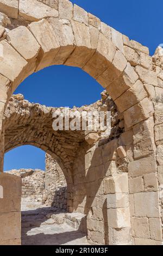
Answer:
<path fill-rule="evenodd" d="M 21 178 L 0 173 L 0 245 L 21 245 Z"/>

